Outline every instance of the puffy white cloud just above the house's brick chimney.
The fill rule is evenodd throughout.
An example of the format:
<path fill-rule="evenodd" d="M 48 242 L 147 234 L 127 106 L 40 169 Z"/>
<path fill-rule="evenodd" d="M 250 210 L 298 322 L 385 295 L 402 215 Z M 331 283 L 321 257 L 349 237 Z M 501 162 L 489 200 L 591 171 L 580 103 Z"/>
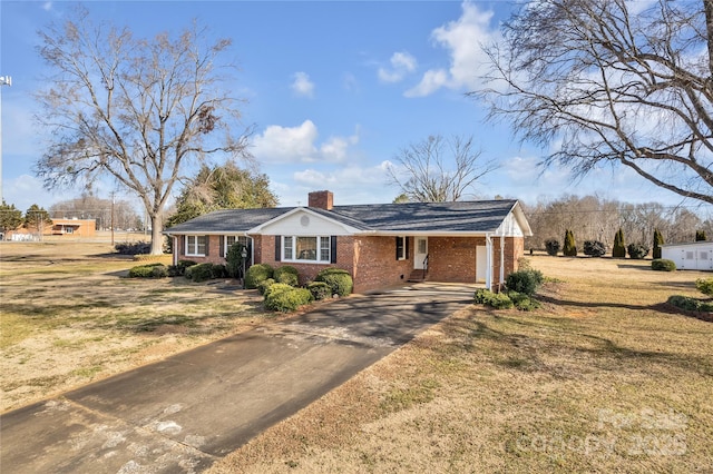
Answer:
<path fill-rule="evenodd" d="M 263 162 L 344 161 L 350 147 L 359 142 L 359 128 L 349 137 L 333 136 L 318 144 L 318 128 L 312 120 L 297 127 L 271 125 L 253 141 L 253 155 Z"/>

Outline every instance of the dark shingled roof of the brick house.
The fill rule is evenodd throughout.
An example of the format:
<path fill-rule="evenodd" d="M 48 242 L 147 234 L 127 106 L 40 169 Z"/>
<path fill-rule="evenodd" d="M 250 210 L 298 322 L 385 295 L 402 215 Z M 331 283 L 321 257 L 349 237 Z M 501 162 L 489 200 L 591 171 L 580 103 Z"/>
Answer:
<path fill-rule="evenodd" d="M 502 199 L 334 206 L 332 210 L 314 207 L 309 209 L 367 231 L 490 233 L 502 224 L 516 204 L 516 200 Z M 166 229 L 166 233 L 243 233 L 292 209 L 294 207 L 216 210 L 178 224 Z"/>

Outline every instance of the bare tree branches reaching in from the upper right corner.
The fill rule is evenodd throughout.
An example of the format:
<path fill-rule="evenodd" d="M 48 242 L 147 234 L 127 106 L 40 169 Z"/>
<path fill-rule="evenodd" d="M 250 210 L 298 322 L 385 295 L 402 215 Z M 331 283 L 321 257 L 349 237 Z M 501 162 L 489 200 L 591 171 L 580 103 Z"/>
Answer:
<path fill-rule="evenodd" d="M 524 140 L 556 144 L 544 164 L 621 164 L 713 203 L 713 0 L 528 2 L 502 37 L 491 88 L 470 95 Z"/>

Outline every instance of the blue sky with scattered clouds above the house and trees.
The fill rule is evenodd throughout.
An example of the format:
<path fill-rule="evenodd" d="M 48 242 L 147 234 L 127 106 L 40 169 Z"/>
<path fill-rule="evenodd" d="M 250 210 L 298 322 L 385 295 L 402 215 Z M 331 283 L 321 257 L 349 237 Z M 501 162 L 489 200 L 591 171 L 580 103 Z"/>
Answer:
<path fill-rule="evenodd" d="M 401 148 L 429 135 L 473 136 L 500 168 L 469 198 L 496 195 L 535 204 L 563 194 L 598 194 L 629 203 L 675 205 L 680 197 L 624 169 L 573 181 L 566 169 L 537 167 L 544 150 L 517 142 L 507 125 L 484 122 L 465 93 L 479 86 L 479 43 L 497 39 L 509 1 L 92 1 L 92 18 L 137 36 L 179 31 L 193 19 L 233 39 L 241 66 L 235 88 L 255 126 L 252 151 L 283 206 L 330 189 L 338 205 L 390 203 L 399 194 L 385 167 Z M 61 22 L 74 2 L 0 2 L 2 194 L 25 210 L 79 190 L 41 188 L 32 167 L 46 146 L 32 93 L 47 73 L 37 31 Z M 111 185 L 98 186 L 108 197 Z M 126 191 L 118 196 L 136 200 Z M 138 204 L 138 200 L 136 200 Z"/>

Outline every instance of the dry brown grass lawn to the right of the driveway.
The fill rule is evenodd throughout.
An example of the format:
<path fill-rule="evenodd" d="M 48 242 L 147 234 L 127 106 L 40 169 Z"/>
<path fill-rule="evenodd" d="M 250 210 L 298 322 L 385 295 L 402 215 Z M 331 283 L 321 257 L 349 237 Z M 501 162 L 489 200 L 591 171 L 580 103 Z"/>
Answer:
<path fill-rule="evenodd" d="M 713 472 L 713 325 L 661 305 L 704 274 L 531 263 L 540 310 L 461 310 L 211 472 Z"/>

